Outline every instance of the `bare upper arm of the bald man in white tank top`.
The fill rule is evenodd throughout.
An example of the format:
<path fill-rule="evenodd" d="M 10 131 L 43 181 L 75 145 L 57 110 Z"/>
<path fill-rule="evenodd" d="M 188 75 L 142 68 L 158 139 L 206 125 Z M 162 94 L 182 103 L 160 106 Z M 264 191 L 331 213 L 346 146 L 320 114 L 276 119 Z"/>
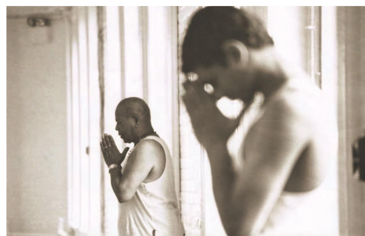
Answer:
<path fill-rule="evenodd" d="M 158 146 L 152 140 L 145 140 L 128 158 L 119 182 L 120 198 L 122 201 L 131 199 L 139 185 L 147 178 L 158 158 Z"/>

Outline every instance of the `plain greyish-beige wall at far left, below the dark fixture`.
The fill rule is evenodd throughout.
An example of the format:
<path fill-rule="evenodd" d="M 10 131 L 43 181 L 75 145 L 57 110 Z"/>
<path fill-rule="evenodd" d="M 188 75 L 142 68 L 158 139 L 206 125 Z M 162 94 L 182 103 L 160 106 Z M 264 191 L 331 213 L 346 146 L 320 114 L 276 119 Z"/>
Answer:
<path fill-rule="evenodd" d="M 7 19 L 7 221 L 24 235 L 56 233 L 67 210 L 65 22 L 51 24 Z"/>

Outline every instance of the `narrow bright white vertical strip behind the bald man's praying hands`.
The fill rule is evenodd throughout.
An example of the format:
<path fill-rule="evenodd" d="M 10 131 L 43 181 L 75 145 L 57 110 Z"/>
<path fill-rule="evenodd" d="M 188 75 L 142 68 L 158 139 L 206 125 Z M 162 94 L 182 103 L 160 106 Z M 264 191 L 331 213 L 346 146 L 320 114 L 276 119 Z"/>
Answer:
<path fill-rule="evenodd" d="M 114 137 L 116 145 L 121 149 L 118 133 L 115 130 L 115 108 L 122 99 L 122 83 L 120 71 L 120 33 L 119 8 L 106 7 L 106 38 L 104 55 L 104 132 Z M 121 150 L 120 150 L 121 151 Z M 118 201 L 110 185 L 110 175 L 104 165 L 105 184 L 105 235 L 118 235 Z"/>

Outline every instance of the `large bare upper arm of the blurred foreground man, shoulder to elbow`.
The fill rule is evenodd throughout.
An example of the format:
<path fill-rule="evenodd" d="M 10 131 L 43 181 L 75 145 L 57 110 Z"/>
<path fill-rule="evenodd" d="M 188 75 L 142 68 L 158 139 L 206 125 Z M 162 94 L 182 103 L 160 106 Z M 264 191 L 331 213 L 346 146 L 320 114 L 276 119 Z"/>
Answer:
<path fill-rule="evenodd" d="M 307 119 L 294 104 L 279 100 L 270 105 L 247 137 L 237 179 L 234 201 L 243 214 L 242 233 L 257 233 L 264 226 L 310 137 Z"/>

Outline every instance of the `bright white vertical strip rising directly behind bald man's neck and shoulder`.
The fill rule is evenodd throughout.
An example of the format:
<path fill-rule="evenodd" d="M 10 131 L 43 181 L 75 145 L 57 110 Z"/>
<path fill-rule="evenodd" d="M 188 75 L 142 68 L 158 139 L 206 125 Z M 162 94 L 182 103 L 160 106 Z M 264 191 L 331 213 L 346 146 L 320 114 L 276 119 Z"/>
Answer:
<path fill-rule="evenodd" d="M 167 7 L 148 7 L 148 104 L 155 130 L 171 148 L 172 94 L 168 78 L 167 19 Z"/>

